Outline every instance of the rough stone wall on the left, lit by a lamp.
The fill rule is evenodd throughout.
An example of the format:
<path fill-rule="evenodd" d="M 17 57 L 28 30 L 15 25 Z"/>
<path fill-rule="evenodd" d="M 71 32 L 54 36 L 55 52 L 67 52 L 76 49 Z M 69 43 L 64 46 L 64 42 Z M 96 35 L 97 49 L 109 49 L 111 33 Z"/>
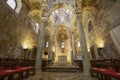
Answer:
<path fill-rule="evenodd" d="M 28 7 L 22 3 L 19 14 L 0 0 L 0 57 L 23 57 L 23 45 L 37 46 L 37 34 L 27 16 Z"/>

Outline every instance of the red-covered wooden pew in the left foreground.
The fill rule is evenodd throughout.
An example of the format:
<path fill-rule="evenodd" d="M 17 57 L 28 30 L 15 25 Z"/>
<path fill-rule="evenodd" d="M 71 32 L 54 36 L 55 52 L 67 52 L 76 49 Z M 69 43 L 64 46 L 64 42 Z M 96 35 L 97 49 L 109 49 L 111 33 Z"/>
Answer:
<path fill-rule="evenodd" d="M 22 80 L 34 75 L 35 69 L 32 66 L 18 67 L 16 69 L 0 69 L 0 80 Z"/>

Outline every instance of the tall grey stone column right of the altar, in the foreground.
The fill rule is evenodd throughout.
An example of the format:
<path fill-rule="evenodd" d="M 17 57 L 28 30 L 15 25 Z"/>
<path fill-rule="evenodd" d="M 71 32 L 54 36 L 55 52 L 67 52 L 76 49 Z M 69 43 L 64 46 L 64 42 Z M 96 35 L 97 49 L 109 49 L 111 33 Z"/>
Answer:
<path fill-rule="evenodd" d="M 89 54 L 87 50 L 87 44 L 86 44 L 86 39 L 85 39 L 85 34 L 83 31 L 82 24 L 80 22 L 79 17 L 77 18 L 77 26 L 79 30 L 79 38 L 80 38 L 80 44 L 81 44 L 81 53 L 83 55 L 83 69 L 85 74 L 90 74 L 90 59 L 89 59 Z"/>

